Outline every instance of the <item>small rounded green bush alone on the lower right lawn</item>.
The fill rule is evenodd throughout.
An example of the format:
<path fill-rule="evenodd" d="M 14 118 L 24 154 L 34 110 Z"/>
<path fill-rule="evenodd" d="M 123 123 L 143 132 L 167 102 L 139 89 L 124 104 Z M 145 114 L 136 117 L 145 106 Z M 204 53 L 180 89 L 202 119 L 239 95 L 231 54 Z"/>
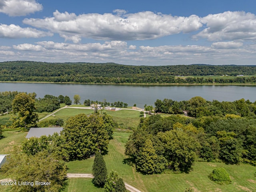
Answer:
<path fill-rule="evenodd" d="M 208 176 L 210 180 L 218 183 L 218 184 L 230 184 L 231 180 L 228 172 L 224 168 L 216 168 L 212 170 L 210 175 Z"/>

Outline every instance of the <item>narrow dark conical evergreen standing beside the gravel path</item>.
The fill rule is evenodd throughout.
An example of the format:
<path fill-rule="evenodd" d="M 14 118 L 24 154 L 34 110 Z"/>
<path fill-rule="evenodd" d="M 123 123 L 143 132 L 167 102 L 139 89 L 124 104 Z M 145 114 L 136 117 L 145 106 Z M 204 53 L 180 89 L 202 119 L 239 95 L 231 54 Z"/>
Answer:
<path fill-rule="evenodd" d="M 92 174 L 94 178 L 92 183 L 96 186 L 103 187 L 107 177 L 106 163 L 100 152 L 96 151 L 94 163 L 92 165 Z"/>

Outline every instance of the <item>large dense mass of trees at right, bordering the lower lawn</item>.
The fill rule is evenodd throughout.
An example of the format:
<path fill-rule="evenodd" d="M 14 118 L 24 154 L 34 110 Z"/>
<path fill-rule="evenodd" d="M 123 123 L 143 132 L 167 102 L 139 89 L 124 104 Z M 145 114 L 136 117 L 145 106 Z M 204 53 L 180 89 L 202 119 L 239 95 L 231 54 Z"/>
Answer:
<path fill-rule="evenodd" d="M 125 162 L 144 174 L 189 172 L 195 161 L 256 166 L 256 119 L 153 115 L 130 135 Z"/>

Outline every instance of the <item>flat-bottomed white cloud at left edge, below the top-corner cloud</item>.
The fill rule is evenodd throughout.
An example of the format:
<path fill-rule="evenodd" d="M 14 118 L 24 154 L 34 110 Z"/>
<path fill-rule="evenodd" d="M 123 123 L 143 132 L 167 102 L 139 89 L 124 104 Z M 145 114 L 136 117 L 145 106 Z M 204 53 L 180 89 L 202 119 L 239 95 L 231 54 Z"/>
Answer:
<path fill-rule="evenodd" d="M 40 38 L 52 35 L 50 32 L 44 32 L 34 28 L 21 28 L 14 24 L 0 24 L 0 38 Z"/>

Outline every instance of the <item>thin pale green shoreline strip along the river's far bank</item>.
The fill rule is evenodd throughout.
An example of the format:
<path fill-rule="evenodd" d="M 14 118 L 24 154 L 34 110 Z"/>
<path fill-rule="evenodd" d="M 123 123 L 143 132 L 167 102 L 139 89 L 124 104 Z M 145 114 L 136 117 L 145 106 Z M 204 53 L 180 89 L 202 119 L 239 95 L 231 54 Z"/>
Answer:
<path fill-rule="evenodd" d="M 78 82 L 31 82 L 31 81 L 0 81 L 0 83 L 49 83 L 49 84 L 86 84 L 86 85 L 255 85 L 256 83 L 78 83 Z"/>

